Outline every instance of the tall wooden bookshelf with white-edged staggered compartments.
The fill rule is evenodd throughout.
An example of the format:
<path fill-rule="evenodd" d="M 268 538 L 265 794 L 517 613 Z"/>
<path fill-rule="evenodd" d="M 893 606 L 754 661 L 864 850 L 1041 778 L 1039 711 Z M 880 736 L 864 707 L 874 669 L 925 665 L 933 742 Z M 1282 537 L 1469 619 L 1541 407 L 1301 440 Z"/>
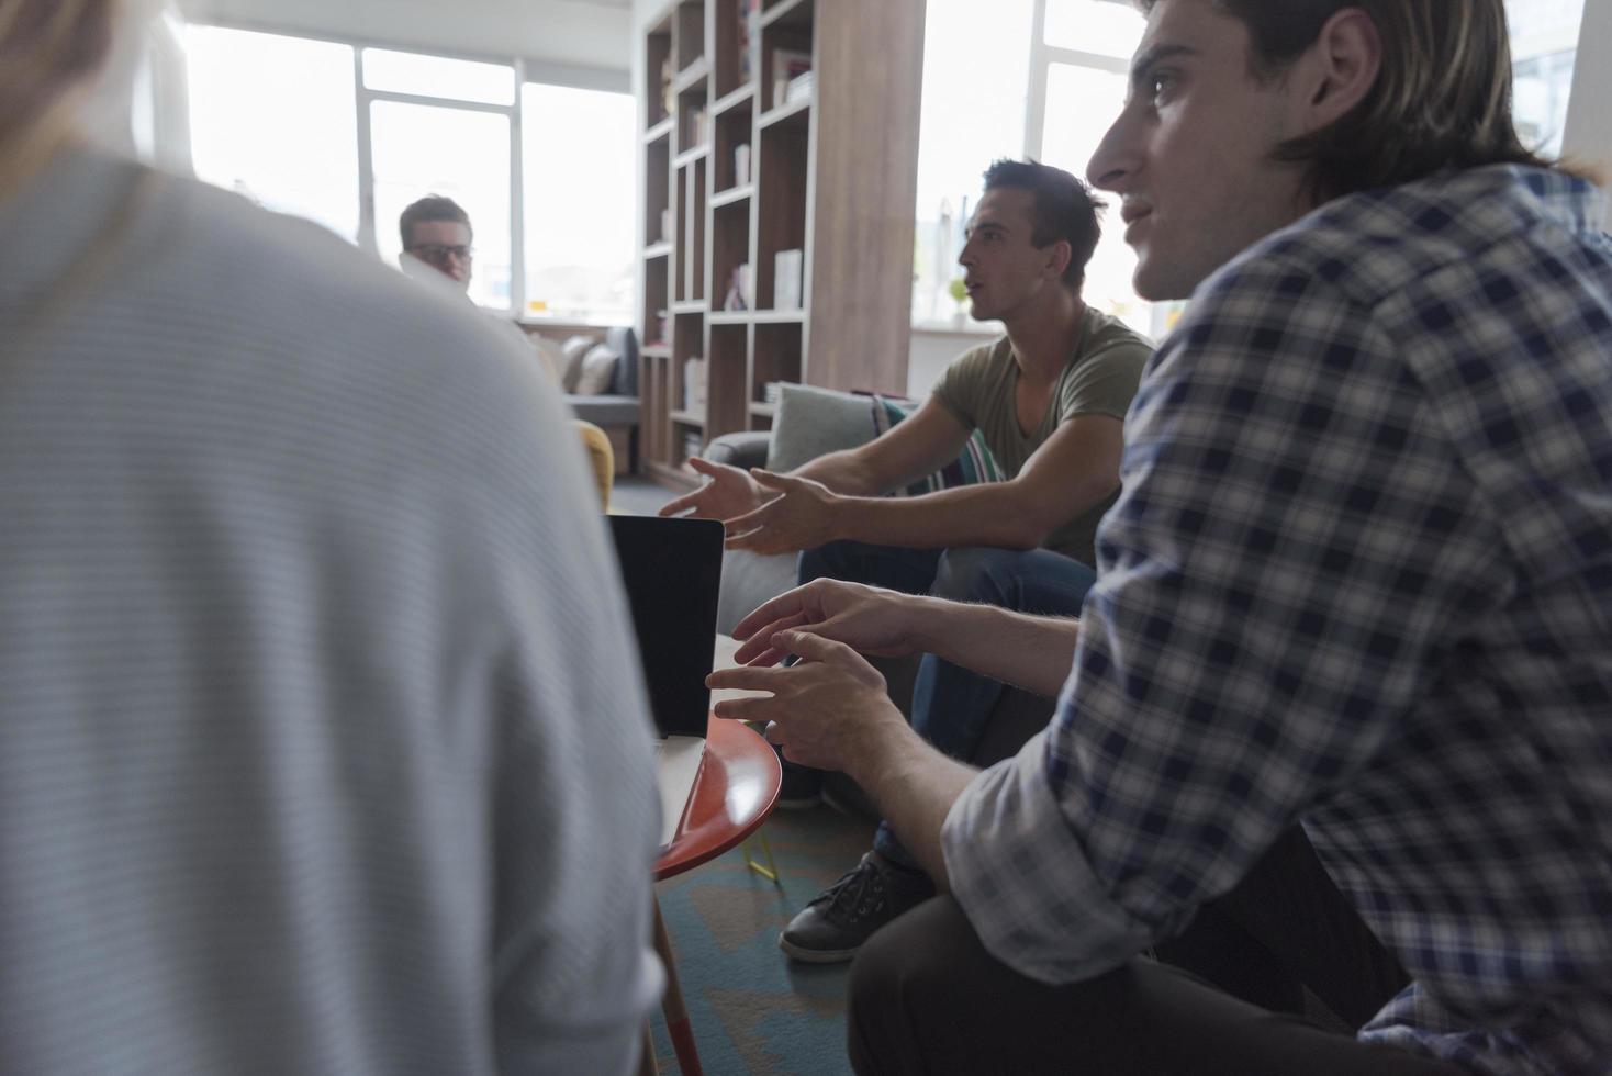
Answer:
<path fill-rule="evenodd" d="M 772 382 L 906 390 L 922 53 L 924 0 L 679 0 L 640 27 L 653 478 L 771 428 Z"/>

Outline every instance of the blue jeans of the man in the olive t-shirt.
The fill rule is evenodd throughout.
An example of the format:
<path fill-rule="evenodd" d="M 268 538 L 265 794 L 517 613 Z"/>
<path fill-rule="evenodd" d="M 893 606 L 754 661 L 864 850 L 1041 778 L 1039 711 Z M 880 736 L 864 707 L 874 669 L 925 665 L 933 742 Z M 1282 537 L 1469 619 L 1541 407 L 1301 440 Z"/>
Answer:
<path fill-rule="evenodd" d="M 862 541 L 830 541 L 804 551 L 800 581 L 824 577 L 1062 617 L 1080 612 L 1098 578 L 1080 561 L 1051 549 L 898 549 Z M 912 685 L 912 728 L 966 762 L 985 735 L 1001 691 L 999 680 L 924 654 Z M 879 823 L 874 849 L 901 867 L 919 868 L 888 823 Z"/>

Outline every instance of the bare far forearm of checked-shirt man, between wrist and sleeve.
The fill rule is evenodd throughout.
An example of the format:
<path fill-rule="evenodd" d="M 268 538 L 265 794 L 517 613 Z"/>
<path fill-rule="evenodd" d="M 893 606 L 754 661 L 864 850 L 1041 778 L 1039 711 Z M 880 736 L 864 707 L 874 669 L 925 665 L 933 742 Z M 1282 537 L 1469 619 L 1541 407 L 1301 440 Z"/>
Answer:
<path fill-rule="evenodd" d="M 912 649 L 1040 696 L 1069 678 L 1080 622 L 914 596 Z"/>

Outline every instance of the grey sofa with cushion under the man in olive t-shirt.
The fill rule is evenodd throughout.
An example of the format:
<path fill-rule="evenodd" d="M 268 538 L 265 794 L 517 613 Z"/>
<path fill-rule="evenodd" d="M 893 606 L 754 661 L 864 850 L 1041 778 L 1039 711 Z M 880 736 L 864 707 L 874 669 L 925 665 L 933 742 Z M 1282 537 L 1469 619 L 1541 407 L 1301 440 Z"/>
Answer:
<path fill-rule="evenodd" d="M 729 433 L 706 445 L 706 459 L 733 467 L 767 467 L 790 470 L 824 453 L 856 448 L 872 440 L 882 424 L 874 411 L 879 398 L 837 393 L 804 385 L 785 385 L 771 432 Z M 949 469 L 948 469 L 949 470 Z M 759 556 L 730 551 L 722 562 L 722 591 L 717 604 L 717 630 L 733 625 L 769 598 L 795 586 L 795 554 Z M 912 681 L 917 657 L 872 659 L 885 675 L 890 697 L 911 715 Z M 1008 688 L 996 701 L 985 736 L 967 762 L 987 767 L 1017 751 L 1046 728 L 1056 699 Z M 870 810 L 866 797 L 843 775 L 832 775 L 829 794 L 851 805 Z"/>

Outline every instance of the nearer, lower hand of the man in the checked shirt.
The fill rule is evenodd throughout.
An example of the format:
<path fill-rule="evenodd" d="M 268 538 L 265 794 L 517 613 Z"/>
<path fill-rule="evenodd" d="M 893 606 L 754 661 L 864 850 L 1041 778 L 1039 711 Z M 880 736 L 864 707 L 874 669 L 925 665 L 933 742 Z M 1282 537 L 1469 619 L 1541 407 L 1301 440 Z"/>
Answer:
<path fill-rule="evenodd" d="M 769 722 L 767 739 L 790 762 L 822 770 L 877 765 L 880 739 L 909 735 L 885 693 L 885 678 L 845 643 L 804 631 L 782 631 L 774 643 L 801 662 L 788 667 L 742 665 L 706 678 L 713 689 L 764 691 L 766 696 L 724 699 L 714 714 L 740 722 Z"/>

